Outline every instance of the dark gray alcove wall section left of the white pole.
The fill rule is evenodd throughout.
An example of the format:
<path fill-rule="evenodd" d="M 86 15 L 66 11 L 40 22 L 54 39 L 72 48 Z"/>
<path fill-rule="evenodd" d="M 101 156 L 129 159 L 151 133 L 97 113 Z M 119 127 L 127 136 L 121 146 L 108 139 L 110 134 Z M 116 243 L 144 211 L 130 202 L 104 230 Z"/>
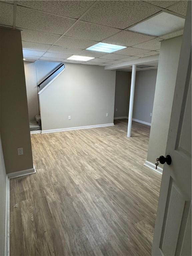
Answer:
<path fill-rule="evenodd" d="M 128 92 L 130 94 L 129 73 L 116 71 L 114 117 L 127 116 Z"/>

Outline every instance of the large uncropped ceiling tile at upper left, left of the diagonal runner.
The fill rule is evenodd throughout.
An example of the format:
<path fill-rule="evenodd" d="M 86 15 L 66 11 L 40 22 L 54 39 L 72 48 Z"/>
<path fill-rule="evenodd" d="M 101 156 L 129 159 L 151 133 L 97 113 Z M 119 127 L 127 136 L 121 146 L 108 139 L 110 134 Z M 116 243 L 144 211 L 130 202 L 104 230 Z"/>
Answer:
<path fill-rule="evenodd" d="M 74 19 L 17 6 L 16 26 L 53 34 L 63 34 Z"/>

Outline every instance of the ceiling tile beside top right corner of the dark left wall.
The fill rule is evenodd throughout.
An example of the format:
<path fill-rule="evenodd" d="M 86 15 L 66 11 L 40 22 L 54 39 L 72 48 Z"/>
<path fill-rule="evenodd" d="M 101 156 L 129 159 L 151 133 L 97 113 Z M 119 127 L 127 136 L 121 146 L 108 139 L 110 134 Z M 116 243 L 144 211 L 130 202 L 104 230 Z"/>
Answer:
<path fill-rule="evenodd" d="M 23 29 L 21 31 L 21 38 L 23 41 L 40 43 L 40 44 L 53 44 L 60 35 L 53 35 L 44 32 Z"/>

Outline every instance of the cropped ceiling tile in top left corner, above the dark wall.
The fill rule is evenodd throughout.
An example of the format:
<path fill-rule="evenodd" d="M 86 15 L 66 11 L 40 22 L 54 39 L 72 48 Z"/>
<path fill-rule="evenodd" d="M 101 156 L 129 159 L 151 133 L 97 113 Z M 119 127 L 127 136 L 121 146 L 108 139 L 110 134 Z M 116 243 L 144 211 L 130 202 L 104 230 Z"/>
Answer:
<path fill-rule="evenodd" d="M 13 26 L 13 5 L 0 2 L 0 24 Z"/>

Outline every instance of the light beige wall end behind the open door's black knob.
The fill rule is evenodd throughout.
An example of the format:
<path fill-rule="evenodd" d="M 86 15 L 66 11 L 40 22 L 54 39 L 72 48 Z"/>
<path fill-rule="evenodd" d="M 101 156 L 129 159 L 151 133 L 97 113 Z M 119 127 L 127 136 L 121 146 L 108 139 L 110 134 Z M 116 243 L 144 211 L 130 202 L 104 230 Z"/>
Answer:
<path fill-rule="evenodd" d="M 147 161 L 165 155 L 182 37 L 162 41 Z M 163 165 L 159 164 L 162 168 Z"/>

